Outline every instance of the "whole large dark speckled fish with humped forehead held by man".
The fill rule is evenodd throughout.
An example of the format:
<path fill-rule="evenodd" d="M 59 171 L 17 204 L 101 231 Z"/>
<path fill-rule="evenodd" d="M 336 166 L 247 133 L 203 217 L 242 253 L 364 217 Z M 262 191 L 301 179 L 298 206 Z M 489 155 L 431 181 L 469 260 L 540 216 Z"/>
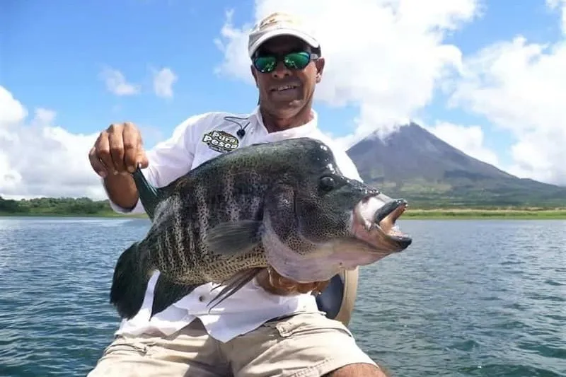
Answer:
<path fill-rule="evenodd" d="M 208 282 L 225 286 L 220 301 L 268 266 L 296 282 L 324 282 L 412 242 L 395 226 L 405 200 L 346 178 L 316 139 L 245 146 L 166 187 L 140 170 L 134 181 L 152 224 L 115 267 L 110 302 L 122 318 L 139 311 L 155 270 L 151 315 Z"/>

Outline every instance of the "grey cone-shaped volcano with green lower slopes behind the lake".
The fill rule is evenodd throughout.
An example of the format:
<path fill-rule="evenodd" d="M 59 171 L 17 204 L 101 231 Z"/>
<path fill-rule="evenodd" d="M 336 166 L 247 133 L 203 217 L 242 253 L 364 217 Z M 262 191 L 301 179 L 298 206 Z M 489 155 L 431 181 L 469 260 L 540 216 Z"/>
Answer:
<path fill-rule="evenodd" d="M 517 178 L 410 123 L 347 153 L 362 178 L 418 207 L 566 207 L 566 187 Z"/>

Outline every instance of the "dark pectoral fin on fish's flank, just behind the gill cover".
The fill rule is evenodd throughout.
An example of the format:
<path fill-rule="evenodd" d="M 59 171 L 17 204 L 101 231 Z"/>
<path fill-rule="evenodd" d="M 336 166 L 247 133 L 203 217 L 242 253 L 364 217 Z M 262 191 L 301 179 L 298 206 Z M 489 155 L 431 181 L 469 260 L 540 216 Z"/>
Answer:
<path fill-rule="evenodd" d="M 208 232 L 204 243 L 213 253 L 221 255 L 246 253 L 261 242 L 261 224 L 254 220 L 222 223 Z"/>

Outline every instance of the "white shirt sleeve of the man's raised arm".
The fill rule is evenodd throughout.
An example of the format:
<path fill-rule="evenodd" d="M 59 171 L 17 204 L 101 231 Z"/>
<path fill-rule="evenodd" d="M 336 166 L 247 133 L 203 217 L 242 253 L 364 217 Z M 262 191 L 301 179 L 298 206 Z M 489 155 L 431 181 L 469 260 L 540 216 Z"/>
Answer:
<path fill-rule="evenodd" d="M 196 128 L 200 128 L 202 122 L 206 122 L 207 114 L 195 115 L 188 118 L 173 131 L 173 135 L 166 141 L 162 141 L 146 152 L 149 166 L 141 172 L 146 180 L 156 187 L 163 187 L 168 183 L 187 173 L 195 158 L 197 140 L 195 139 Z M 142 135 L 143 137 L 143 135 Z M 103 187 L 105 188 L 104 184 Z M 106 188 L 105 188 L 106 190 Z M 108 190 L 106 190 L 108 196 Z M 112 202 L 108 196 L 110 207 L 120 214 L 142 214 L 144 207 L 137 201 L 132 209 L 126 209 Z"/>

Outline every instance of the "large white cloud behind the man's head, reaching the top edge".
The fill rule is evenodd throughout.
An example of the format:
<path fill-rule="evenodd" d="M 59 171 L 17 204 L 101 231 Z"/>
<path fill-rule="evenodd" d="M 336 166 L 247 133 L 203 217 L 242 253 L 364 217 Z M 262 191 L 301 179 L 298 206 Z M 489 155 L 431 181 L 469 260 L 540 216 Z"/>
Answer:
<path fill-rule="evenodd" d="M 253 19 L 237 27 L 231 14 L 216 45 L 224 52 L 219 74 L 253 83 L 246 55 L 251 25 L 272 11 L 291 11 L 308 20 L 326 58 L 317 100 L 356 105 L 359 116 L 349 144 L 377 128 L 417 115 L 447 74 L 461 69 L 458 47 L 446 33 L 471 21 L 475 0 L 277 0 L 255 1 Z"/>

